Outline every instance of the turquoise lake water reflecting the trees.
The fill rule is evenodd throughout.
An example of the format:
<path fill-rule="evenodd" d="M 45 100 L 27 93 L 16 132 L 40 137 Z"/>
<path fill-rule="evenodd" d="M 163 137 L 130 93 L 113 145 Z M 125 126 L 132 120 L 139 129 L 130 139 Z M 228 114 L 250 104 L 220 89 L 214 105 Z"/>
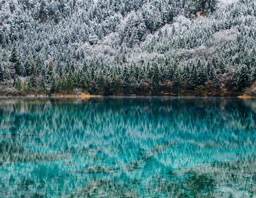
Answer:
<path fill-rule="evenodd" d="M 0 197 L 254 197 L 256 100 L 0 99 Z"/>

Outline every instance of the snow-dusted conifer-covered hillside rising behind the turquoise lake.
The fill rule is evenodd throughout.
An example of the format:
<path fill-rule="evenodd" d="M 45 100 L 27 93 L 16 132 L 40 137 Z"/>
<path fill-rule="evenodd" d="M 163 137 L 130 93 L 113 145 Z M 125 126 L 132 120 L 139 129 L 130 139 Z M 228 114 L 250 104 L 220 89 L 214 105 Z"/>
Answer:
<path fill-rule="evenodd" d="M 255 94 L 255 9 L 254 0 L 1 0 L 0 92 Z"/>

